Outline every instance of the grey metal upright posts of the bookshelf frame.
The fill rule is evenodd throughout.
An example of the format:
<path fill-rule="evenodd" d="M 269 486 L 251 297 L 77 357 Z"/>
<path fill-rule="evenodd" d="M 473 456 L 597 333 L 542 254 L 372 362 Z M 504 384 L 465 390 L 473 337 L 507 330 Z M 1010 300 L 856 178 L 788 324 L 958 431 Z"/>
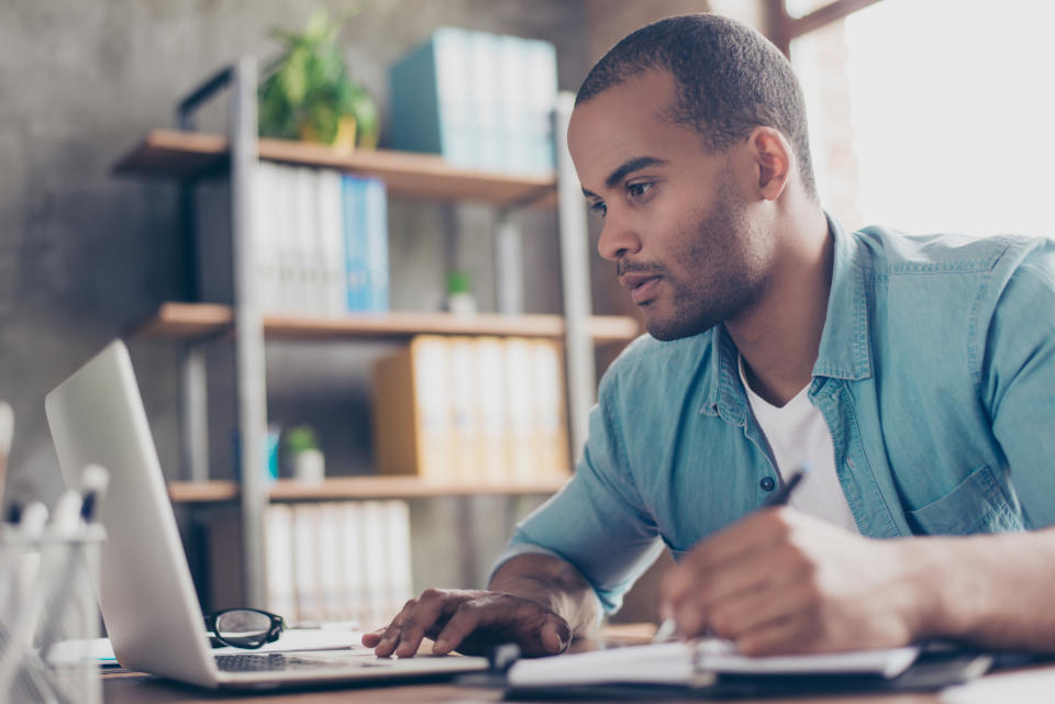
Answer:
<path fill-rule="evenodd" d="M 234 65 L 219 71 L 187 98 L 176 110 L 180 130 L 193 131 L 195 115 L 207 101 L 222 90 L 230 90 L 231 145 L 231 209 L 234 253 L 234 346 L 237 427 L 241 438 L 241 477 L 238 492 L 242 513 L 242 555 L 245 579 L 244 603 L 264 607 L 266 572 L 264 569 L 264 511 L 269 501 L 260 468 L 264 466 L 264 443 L 267 427 L 267 379 L 265 368 L 264 322 L 258 305 L 254 272 L 253 232 L 258 209 L 255 208 L 256 181 L 259 166 L 257 136 L 257 60 L 252 56 L 240 58 Z M 557 216 L 559 223 L 562 284 L 564 289 L 565 349 L 568 381 L 569 439 L 577 454 L 586 440 L 587 418 L 596 400 L 596 369 L 593 343 L 590 335 L 591 295 L 589 267 L 589 235 L 585 200 L 565 135 L 574 98 L 562 93 L 554 111 L 554 135 L 557 164 Z M 185 271 L 185 287 L 192 297 L 197 293 L 193 213 L 190 189 L 193 178 L 181 181 L 180 203 L 186 242 L 184 252 L 189 262 Z M 499 248 L 515 250 L 519 232 L 506 217 L 500 219 Z M 515 313 L 522 301 L 523 276 L 515 256 L 498 256 L 496 276 L 504 282 L 500 294 L 502 312 Z M 181 427 L 185 476 L 191 481 L 209 479 L 207 380 L 202 345 L 195 340 L 186 346 L 181 376 Z"/>

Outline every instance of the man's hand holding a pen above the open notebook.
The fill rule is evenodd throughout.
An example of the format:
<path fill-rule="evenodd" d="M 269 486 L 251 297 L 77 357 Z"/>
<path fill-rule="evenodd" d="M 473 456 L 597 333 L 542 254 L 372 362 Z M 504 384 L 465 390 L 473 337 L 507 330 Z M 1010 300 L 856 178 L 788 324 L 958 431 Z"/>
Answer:
<path fill-rule="evenodd" d="M 663 608 L 686 636 L 710 630 L 747 655 L 902 646 L 935 607 L 911 543 L 760 511 L 699 543 L 664 580 Z"/>

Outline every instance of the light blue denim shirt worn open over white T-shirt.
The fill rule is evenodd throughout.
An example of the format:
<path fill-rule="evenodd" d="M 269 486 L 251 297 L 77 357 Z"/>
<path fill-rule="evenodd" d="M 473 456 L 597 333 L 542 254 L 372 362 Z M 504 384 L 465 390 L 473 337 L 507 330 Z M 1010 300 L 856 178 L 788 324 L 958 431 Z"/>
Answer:
<path fill-rule="evenodd" d="M 832 290 L 808 393 L 860 533 L 1055 523 L 1055 243 L 829 223 Z M 762 506 L 779 476 L 722 325 L 637 338 L 598 395 L 575 476 L 498 563 L 562 557 L 613 611 L 664 545 L 680 558 Z"/>

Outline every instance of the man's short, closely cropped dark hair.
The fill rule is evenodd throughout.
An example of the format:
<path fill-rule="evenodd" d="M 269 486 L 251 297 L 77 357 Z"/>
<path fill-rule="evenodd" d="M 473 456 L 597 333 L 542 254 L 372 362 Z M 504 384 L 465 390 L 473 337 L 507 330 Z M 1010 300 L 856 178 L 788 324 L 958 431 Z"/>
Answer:
<path fill-rule="evenodd" d="M 784 54 L 751 27 L 717 14 L 666 18 L 609 49 L 590 70 L 575 104 L 647 70 L 674 75 L 673 122 L 693 127 L 722 152 L 757 126 L 791 142 L 807 193 L 817 200 L 802 89 Z"/>

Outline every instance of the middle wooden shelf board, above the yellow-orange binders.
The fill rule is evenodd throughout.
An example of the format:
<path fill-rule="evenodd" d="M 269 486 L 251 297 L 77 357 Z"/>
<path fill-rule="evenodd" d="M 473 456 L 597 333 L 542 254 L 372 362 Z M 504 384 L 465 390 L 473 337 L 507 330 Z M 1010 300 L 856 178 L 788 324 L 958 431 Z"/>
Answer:
<path fill-rule="evenodd" d="M 233 325 L 230 306 L 213 303 L 165 303 L 157 314 L 133 328 L 134 335 L 188 339 L 220 335 Z M 343 316 L 265 315 L 268 337 L 355 338 L 410 337 L 412 335 L 522 335 L 564 336 L 559 315 L 453 315 L 449 313 L 348 313 Z M 599 343 L 626 342 L 641 333 L 632 317 L 596 315 L 589 322 L 590 336 Z"/>

